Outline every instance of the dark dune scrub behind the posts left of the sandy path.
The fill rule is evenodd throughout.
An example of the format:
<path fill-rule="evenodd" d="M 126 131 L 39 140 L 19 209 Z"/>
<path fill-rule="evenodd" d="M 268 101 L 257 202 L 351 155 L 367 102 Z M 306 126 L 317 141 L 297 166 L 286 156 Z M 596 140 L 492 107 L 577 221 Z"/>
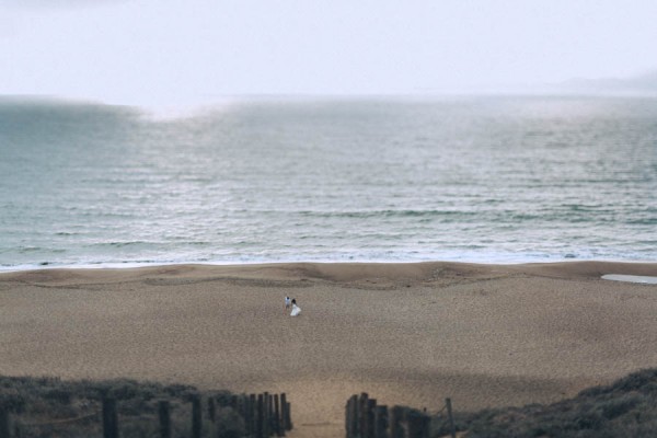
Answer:
<path fill-rule="evenodd" d="M 222 429 L 241 436 L 243 419 L 230 405 L 228 391 L 199 391 L 182 384 L 158 384 L 134 380 L 64 381 L 57 378 L 0 376 L 0 407 L 12 417 L 11 433 L 21 437 L 102 437 L 102 399 L 117 402 L 123 438 L 159 436 L 158 401 L 171 406 L 173 437 L 188 437 L 195 394 L 216 401 L 216 423 L 204 413 L 204 436 Z M 16 430 L 18 427 L 18 430 Z M 232 433 L 232 434 L 231 434 Z M 212 434 L 215 436 L 215 434 Z"/>

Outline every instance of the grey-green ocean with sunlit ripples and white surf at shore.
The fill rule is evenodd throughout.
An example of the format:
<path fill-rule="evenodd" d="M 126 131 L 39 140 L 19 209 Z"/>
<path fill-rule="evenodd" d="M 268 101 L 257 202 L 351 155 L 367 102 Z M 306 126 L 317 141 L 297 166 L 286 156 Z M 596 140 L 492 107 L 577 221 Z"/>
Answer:
<path fill-rule="evenodd" d="M 0 99 L 0 270 L 657 261 L 657 99 Z"/>

